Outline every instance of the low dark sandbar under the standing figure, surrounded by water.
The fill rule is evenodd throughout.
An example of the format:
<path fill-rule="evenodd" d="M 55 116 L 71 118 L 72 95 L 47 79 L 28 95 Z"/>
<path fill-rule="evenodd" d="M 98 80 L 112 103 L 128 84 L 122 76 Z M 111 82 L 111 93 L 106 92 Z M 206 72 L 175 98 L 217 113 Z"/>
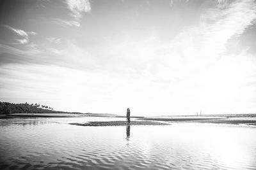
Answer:
<path fill-rule="evenodd" d="M 154 122 L 154 121 L 132 121 L 127 123 L 126 121 L 107 121 L 107 122 L 88 122 L 84 124 L 72 123 L 70 125 L 82 125 L 82 126 L 126 126 L 126 125 L 170 125 L 163 122 Z"/>

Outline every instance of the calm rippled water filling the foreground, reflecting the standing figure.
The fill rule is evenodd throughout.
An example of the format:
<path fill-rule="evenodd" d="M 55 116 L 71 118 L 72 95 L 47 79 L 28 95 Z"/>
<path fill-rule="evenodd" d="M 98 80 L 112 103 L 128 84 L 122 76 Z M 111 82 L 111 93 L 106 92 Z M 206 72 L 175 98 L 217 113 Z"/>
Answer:
<path fill-rule="evenodd" d="M 256 127 L 68 124 L 91 120 L 122 118 L 0 119 L 0 169 L 256 169 Z"/>

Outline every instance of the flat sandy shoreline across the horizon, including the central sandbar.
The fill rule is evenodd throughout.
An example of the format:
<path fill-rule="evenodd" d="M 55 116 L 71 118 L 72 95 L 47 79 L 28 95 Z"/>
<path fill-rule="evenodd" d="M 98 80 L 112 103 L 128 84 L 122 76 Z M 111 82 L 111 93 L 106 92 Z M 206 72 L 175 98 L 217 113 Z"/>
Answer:
<path fill-rule="evenodd" d="M 205 117 L 204 115 L 201 117 L 196 116 L 166 116 L 166 117 L 131 117 L 135 118 L 135 121 L 132 121 L 130 125 L 166 125 L 171 123 L 186 123 L 186 122 L 194 122 L 194 123 L 202 123 L 202 124 L 232 124 L 232 125 L 255 125 L 256 126 L 256 118 L 255 114 L 250 115 L 238 115 L 235 117 L 221 117 L 223 115 L 210 115 Z M 248 116 L 248 117 L 245 117 Z M 120 125 L 128 125 L 125 121 L 126 117 L 123 116 L 111 116 L 111 115 L 100 115 L 93 113 L 12 113 L 12 114 L 1 114 L 0 119 L 4 118 L 83 118 L 83 117 L 106 117 L 106 118 L 124 118 L 124 121 L 106 121 L 106 122 L 89 122 L 87 124 L 79 124 L 72 123 L 72 125 L 83 125 L 83 126 L 120 126 Z"/>

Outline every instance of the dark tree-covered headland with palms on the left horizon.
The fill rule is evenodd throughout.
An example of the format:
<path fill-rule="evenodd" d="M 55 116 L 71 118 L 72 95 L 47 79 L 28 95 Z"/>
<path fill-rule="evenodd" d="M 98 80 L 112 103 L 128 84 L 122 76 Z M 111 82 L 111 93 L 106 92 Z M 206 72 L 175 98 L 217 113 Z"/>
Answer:
<path fill-rule="evenodd" d="M 11 113 L 67 113 L 64 111 L 54 111 L 49 106 L 40 104 L 28 104 L 28 103 L 8 103 L 0 101 L 0 114 L 11 114 Z"/>

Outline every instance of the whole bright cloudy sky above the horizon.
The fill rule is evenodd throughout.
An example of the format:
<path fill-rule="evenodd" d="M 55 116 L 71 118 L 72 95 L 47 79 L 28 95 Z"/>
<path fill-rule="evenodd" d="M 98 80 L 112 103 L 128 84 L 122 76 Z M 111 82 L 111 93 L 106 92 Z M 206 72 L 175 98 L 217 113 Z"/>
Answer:
<path fill-rule="evenodd" d="M 256 113 L 256 1 L 0 2 L 0 101 Z"/>

